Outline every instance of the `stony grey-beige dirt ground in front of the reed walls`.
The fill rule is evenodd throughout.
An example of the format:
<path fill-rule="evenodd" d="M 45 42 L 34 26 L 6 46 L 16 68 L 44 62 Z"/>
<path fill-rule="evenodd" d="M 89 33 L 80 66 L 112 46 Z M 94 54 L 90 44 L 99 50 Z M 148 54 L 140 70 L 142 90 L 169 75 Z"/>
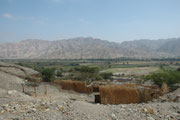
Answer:
<path fill-rule="evenodd" d="M 180 120 L 180 102 L 170 102 L 179 94 L 180 89 L 149 103 L 101 105 L 93 103 L 93 94 L 51 85 L 47 97 L 39 92 L 37 98 L 0 89 L 0 120 Z"/>

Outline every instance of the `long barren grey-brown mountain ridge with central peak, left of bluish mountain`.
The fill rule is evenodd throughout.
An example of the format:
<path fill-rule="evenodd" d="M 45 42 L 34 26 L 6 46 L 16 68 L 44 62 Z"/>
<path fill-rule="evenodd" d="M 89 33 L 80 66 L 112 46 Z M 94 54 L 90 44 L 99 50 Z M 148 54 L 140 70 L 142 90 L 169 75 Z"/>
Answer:
<path fill-rule="evenodd" d="M 120 47 L 120 44 L 93 38 L 44 41 L 25 40 L 0 44 L 1 58 L 117 58 L 136 57 L 137 53 Z"/>

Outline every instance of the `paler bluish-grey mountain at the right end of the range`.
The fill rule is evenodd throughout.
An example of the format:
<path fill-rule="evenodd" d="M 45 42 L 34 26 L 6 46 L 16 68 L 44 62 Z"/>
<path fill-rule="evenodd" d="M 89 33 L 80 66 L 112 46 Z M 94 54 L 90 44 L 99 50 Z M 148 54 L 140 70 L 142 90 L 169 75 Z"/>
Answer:
<path fill-rule="evenodd" d="M 133 51 L 147 53 L 158 57 L 180 56 L 180 38 L 159 39 L 159 40 L 134 40 L 123 42 L 122 46 Z"/>

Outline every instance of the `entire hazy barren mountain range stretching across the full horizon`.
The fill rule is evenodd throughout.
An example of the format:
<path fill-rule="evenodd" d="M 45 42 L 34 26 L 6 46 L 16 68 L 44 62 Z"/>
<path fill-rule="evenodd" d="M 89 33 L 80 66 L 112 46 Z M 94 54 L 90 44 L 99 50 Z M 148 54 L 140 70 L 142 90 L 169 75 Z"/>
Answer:
<path fill-rule="evenodd" d="M 29 39 L 16 43 L 0 44 L 0 58 L 3 59 L 161 58 L 179 56 L 180 38 L 115 43 L 91 37 L 78 37 L 57 41 Z"/>

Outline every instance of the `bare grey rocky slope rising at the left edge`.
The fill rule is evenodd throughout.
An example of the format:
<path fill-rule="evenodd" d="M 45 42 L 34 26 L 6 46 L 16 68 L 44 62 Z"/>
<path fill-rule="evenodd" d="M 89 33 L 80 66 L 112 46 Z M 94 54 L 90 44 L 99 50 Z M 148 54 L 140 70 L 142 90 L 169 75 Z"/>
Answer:
<path fill-rule="evenodd" d="M 0 89 L 22 91 L 21 84 L 39 74 L 29 68 L 0 62 Z"/>

